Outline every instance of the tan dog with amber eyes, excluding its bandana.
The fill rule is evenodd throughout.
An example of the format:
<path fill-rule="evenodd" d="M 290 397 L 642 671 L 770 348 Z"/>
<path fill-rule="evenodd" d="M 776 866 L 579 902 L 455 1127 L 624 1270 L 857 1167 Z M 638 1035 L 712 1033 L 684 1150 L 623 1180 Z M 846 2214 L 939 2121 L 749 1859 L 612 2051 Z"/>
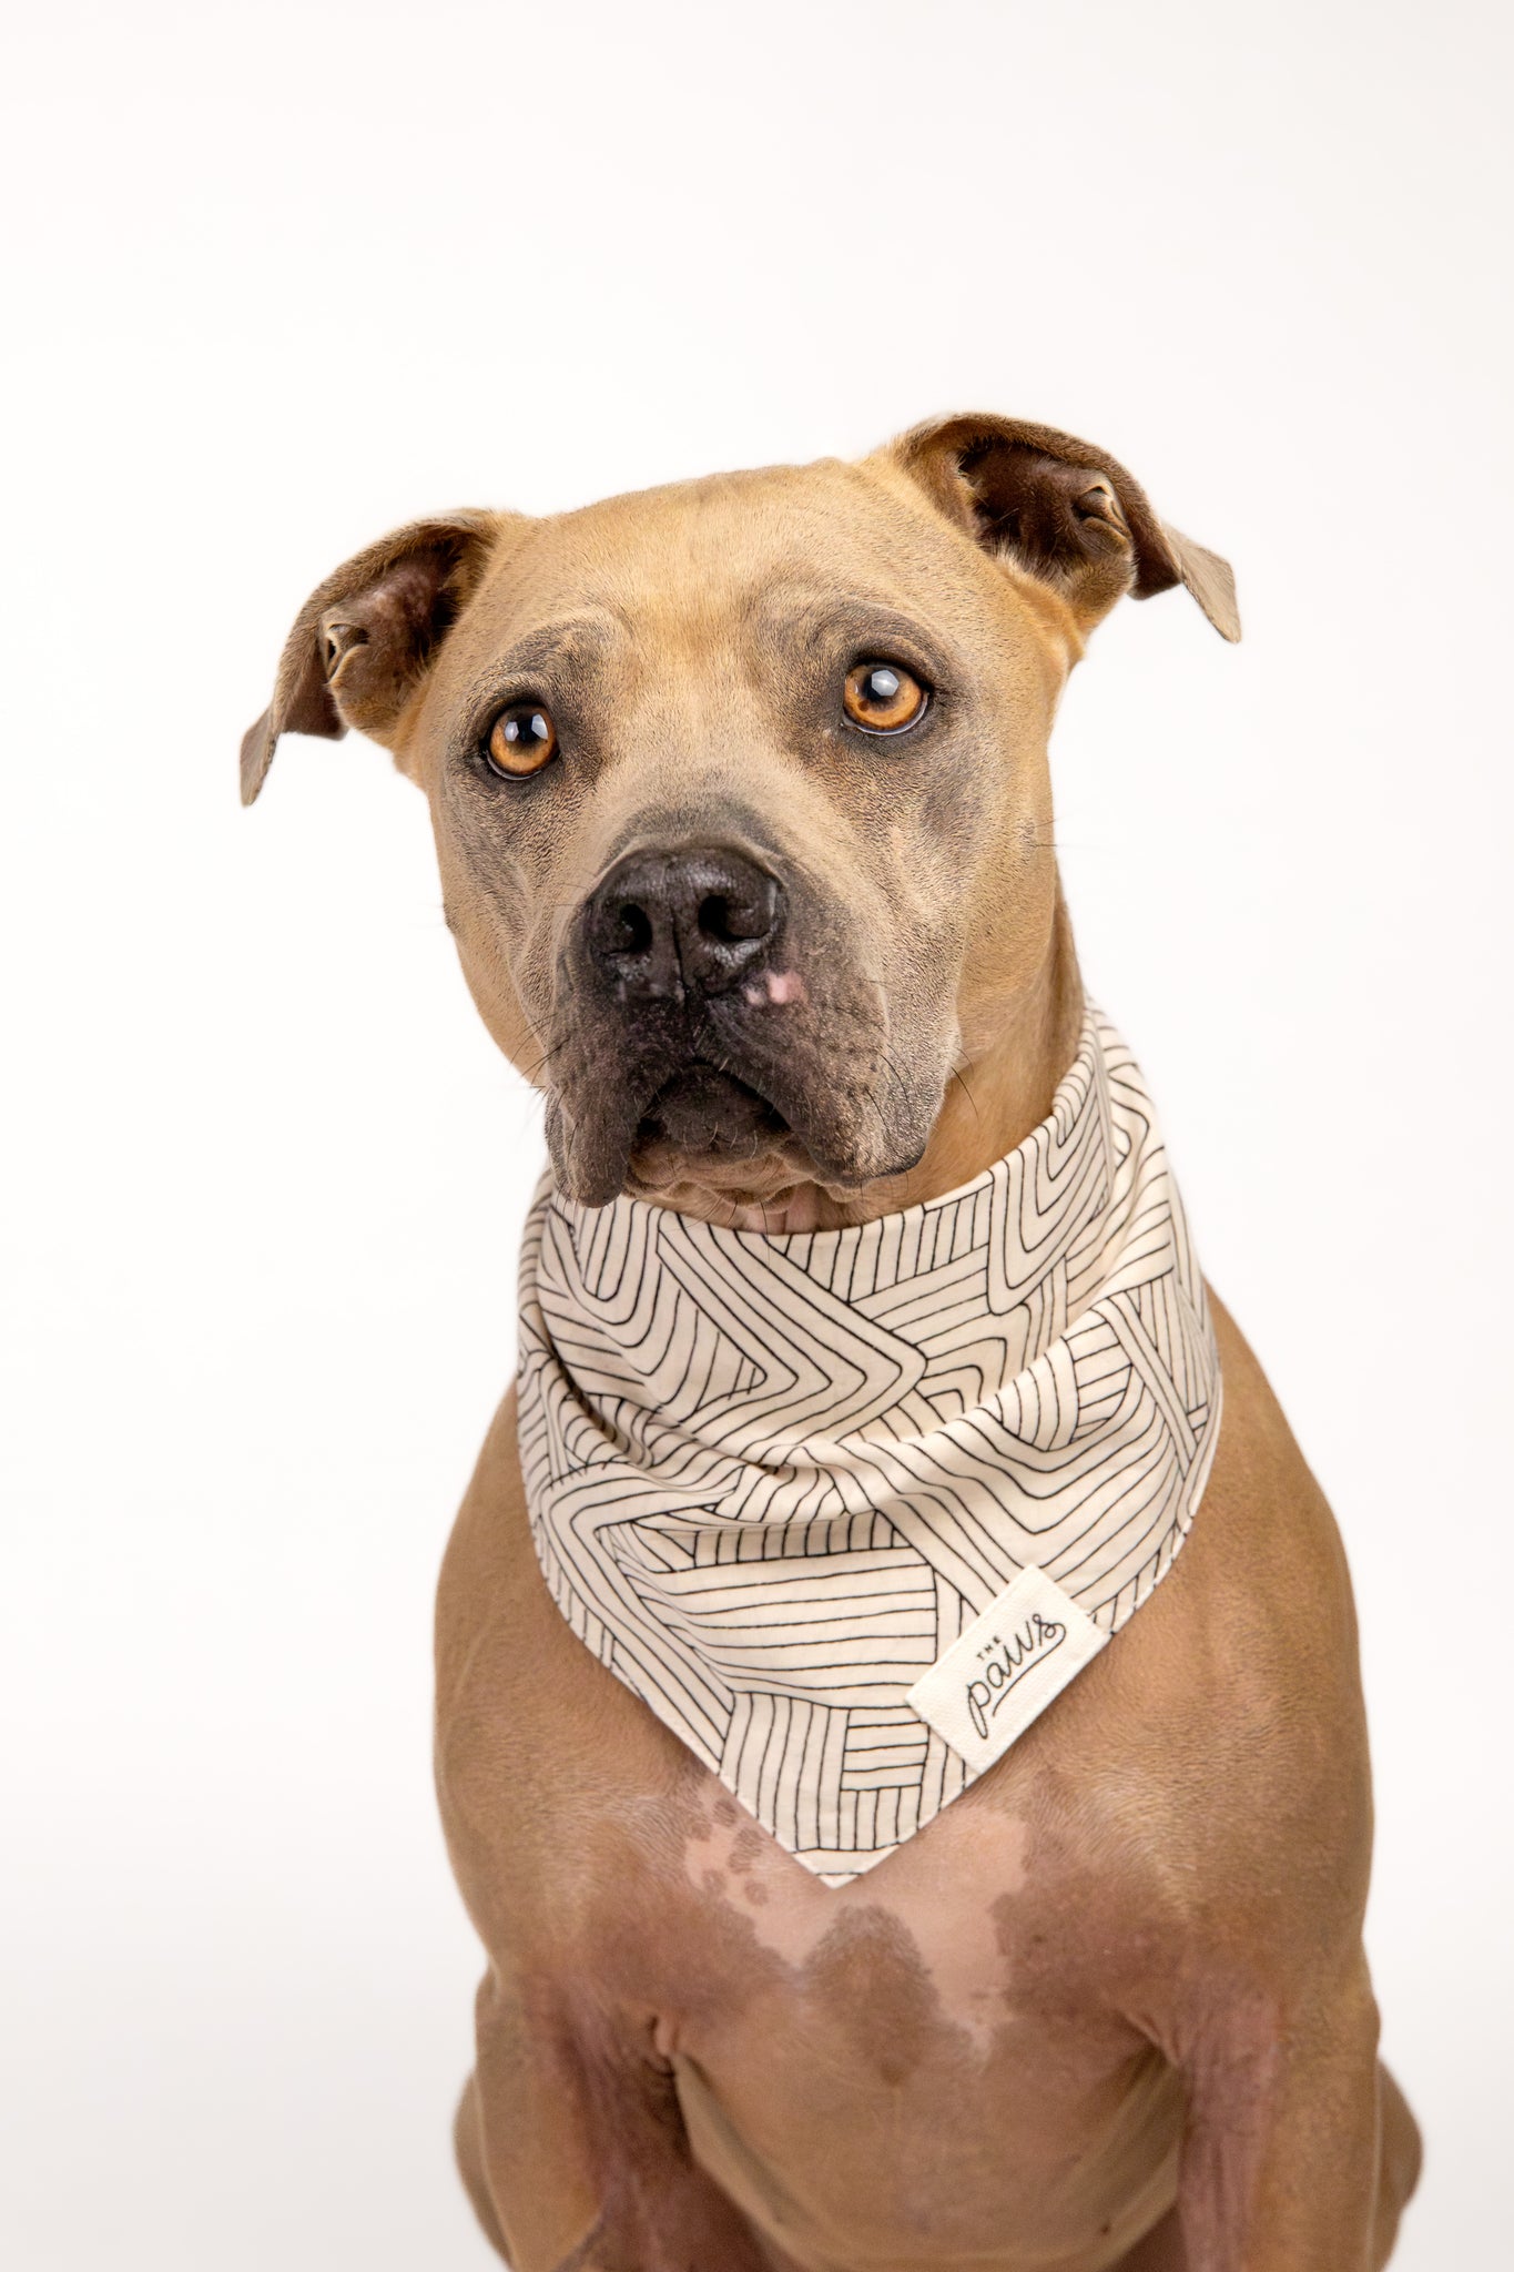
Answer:
<path fill-rule="evenodd" d="M 1239 636 L 1110 457 L 999 418 L 456 513 L 313 593 L 243 793 L 286 729 L 395 752 L 572 1197 L 858 1222 L 1049 1111 L 1083 1013 L 1051 718 L 1115 600 L 1178 582 Z M 438 1781 L 488 1949 L 459 2158 L 515 2272 L 1387 2261 L 1419 2140 L 1362 1956 L 1351 1586 L 1217 1329 L 1171 1579 L 840 1890 L 563 1622 L 506 1395 L 443 1570 Z"/>

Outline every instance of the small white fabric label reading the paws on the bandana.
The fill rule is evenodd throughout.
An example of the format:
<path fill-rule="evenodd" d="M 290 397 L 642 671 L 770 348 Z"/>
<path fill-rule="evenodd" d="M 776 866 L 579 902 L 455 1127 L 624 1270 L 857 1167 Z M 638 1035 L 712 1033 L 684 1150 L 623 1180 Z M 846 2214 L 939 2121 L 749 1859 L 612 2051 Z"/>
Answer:
<path fill-rule="evenodd" d="M 1108 1643 L 1044 1570 L 1021 1570 L 922 1672 L 908 1704 L 983 1774 Z"/>

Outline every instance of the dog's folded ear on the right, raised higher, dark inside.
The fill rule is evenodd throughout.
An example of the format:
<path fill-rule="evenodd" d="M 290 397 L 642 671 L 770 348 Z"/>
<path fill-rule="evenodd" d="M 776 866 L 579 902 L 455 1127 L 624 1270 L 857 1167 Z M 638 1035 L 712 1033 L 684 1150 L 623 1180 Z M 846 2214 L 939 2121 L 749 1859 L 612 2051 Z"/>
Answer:
<path fill-rule="evenodd" d="M 1151 600 L 1183 584 L 1221 638 L 1242 636 L 1230 563 L 1151 511 L 1108 452 L 1019 418 L 935 418 L 888 457 L 987 552 L 1051 584 L 1080 629 L 1121 593 Z"/>

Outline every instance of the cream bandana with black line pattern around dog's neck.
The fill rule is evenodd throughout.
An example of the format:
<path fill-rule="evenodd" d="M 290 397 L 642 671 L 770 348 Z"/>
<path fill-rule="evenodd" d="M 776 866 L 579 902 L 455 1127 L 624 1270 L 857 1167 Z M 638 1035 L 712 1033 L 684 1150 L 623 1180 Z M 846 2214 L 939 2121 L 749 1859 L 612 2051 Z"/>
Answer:
<path fill-rule="evenodd" d="M 542 1186 L 531 1534 L 574 1634 L 826 1883 L 1012 1743 L 1171 1568 L 1219 1434 L 1203 1279 L 1130 1052 L 847 1231 Z"/>

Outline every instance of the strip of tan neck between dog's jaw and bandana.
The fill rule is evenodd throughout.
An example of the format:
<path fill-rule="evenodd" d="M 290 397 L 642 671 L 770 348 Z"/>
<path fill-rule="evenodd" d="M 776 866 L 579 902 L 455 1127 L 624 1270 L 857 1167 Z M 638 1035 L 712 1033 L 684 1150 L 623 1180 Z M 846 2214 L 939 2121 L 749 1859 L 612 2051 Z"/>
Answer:
<path fill-rule="evenodd" d="M 972 1184 L 1006 1159 L 1051 1111 L 1055 1086 L 1078 1054 L 1083 977 L 1060 886 L 1046 954 L 1033 982 L 994 1018 L 987 1045 L 965 1050 L 947 1081 L 931 1143 L 906 1172 L 842 1193 L 797 1181 L 765 1200 L 701 1191 L 658 1193 L 665 1206 L 742 1231 L 835 1231 Z"/>

